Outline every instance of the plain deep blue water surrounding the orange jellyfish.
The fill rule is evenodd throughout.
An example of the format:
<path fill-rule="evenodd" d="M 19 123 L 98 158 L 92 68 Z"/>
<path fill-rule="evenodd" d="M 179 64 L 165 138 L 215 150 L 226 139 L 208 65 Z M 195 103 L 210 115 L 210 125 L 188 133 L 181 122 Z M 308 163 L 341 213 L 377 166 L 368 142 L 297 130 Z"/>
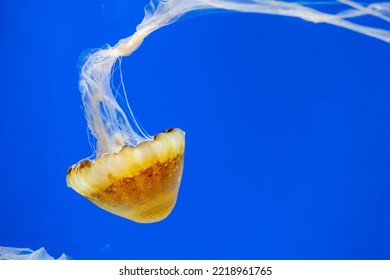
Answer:
<path fill-rule="evenodd" d="M 66 186 L 92 154 L 88 48 L 147 1 L 2 1 L 0 245 L 75 259 L 389 259 L 390 44 L 324 24 L 220 13 L 123 59 L 149 134 L 186 131 L 177 205 L 142 225 Z"/>

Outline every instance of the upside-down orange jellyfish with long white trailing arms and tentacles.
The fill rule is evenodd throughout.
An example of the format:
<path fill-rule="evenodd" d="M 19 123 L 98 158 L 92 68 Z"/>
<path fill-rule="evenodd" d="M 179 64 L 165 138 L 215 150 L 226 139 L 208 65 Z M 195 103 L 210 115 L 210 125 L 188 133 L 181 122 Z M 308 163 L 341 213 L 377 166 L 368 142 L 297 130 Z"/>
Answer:
<path fill-rule="evenodd" d="M 321 11 L 326 5 L 332 5 L 336 12 Z M 139 223 L 161 221 L 174 208 L 182 178 L 185 133 L 171 128 L 149 136 L 134 117 L 123 82 L 124 94 L 120 95 L 111 86 L 111 79 L 115 63 L 137 50 L 152 32 L 207 10 L 297 17 L 390 43 L 388 30 L 356 21 L 371 16 L 389 22 L 389 2 L 367 5 L 351 0 L 152 0 L 133 35 L 112 47 L 89 52 L 80 66 L 84 112 L 96 147 L 92 158 L 68 169 L 66 181 L 97 206 Z M 118 98 L 125 101 L 125 106 L 119 105 Z"/>

